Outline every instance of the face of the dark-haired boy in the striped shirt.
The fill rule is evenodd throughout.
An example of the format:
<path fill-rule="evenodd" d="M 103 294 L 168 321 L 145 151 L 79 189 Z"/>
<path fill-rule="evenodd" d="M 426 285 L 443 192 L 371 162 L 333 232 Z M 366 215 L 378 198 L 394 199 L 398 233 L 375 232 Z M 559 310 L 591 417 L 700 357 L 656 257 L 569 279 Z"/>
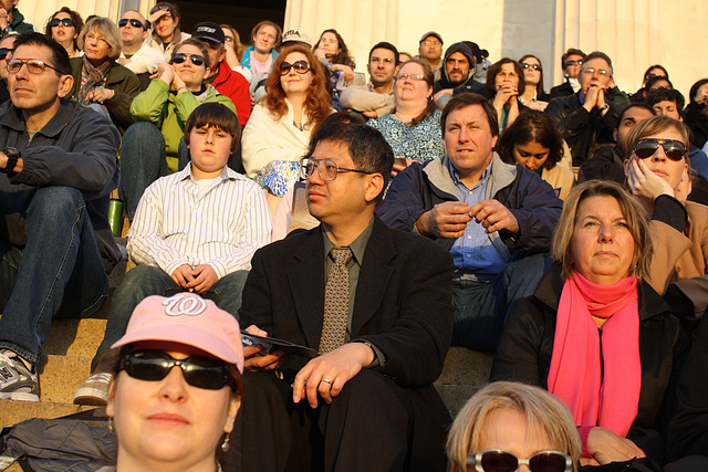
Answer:
<path fill-rule="evenodd" d="M 192 166 L 201 172 L 220 172 L 229 160 L 232 140 L 230 134 L 214 126 L 191 128 L 189 154 Z"/>

